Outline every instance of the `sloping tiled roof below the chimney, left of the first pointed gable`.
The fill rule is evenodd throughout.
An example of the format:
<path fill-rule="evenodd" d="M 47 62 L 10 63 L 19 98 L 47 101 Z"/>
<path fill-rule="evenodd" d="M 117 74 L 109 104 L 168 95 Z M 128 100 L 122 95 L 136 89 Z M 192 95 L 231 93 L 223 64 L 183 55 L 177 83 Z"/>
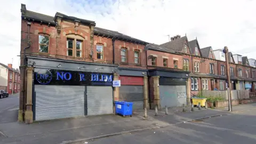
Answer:
<path fill-rule="evenodd" d="M 181 38 L 174 39 L 170 42 L 161 44 L 160 46 L 164 46 L 167 49 L 172 49 L 174 51 L 180 52 L 183 50 L 183 45 L 186 39 L 187 39 L 187 36 L 183 36 Z"/>

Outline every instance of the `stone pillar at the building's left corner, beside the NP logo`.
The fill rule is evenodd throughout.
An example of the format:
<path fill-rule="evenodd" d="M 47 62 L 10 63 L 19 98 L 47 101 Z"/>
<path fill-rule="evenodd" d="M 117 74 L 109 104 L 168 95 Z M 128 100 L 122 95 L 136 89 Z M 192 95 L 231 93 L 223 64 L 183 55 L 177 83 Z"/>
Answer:
<path fill-rule="evenodd" d="M 26 112 L 25 112 L 25 123 L 33 123 L 33 111 L 32 111 L 32 93 L 33 93 L 33 70 L 34 68 L 27 68 L 27 101 L 26 101 Z"/>

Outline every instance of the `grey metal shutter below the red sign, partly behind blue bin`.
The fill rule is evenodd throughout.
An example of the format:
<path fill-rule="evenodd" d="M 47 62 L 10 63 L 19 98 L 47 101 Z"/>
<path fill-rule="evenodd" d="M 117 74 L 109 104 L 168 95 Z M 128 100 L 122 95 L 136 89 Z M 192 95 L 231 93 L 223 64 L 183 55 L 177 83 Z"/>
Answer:
<path fill-rule="evenodd" d="M 121 85 L 119 87 L 119 100 L 133 102 L 133 109 L 143 109 L 143 86 Z"/>

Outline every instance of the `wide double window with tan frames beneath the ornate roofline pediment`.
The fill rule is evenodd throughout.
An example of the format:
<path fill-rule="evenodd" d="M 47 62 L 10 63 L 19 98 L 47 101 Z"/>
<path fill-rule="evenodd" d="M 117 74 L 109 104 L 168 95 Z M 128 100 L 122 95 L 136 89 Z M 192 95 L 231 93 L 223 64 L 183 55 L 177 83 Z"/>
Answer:
<path fill-rule="evenodd" d="M 78 39 L 67 38 L 67 55 L 71 57 L 82 57 L 83 42 Z M 75 45 L 76 44 L 76 45 Z"/>

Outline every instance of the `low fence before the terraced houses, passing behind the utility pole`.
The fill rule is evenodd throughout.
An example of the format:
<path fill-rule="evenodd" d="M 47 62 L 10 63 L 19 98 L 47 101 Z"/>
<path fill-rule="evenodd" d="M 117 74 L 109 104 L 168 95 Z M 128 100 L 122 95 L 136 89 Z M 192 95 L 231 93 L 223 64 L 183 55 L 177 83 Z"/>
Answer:
<path fill-rule="evenodd" d="M 231 99 L 248 99 L 250 98 L 249 90 L 231 90 Z M 223 99 L 228 99 L 228 91 L 202 91 L 204 97 L 221 97 Z"/>

